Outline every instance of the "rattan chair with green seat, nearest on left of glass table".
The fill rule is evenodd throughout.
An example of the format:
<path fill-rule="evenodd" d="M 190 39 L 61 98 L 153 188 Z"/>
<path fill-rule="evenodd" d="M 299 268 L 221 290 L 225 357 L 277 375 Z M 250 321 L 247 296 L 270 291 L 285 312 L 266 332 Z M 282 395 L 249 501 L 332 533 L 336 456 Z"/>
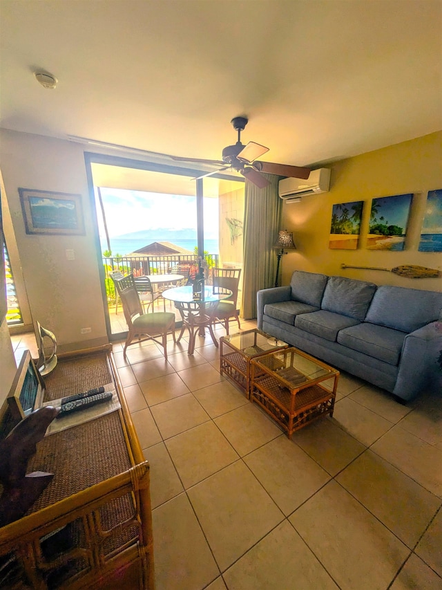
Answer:
<path fill-rule="evenodd" d="M 164 349 L 164 358 L 167 360 L 167 334 L 172 333 L 173 342 L 176 342 L 175 314 L 163 311 L 144 313 L 133 275 L 115 279 L 115 285 L 122 300 L 124 317 L 128 326 L 128 335 L 123 349 L 124 359 L 126 359 L 127 347 L 134 338 L 138 338 L 139 343 L 153 340 L 160 344 Z M 161 340 L 157 340 L 158 337 L 161 337 Z"/>

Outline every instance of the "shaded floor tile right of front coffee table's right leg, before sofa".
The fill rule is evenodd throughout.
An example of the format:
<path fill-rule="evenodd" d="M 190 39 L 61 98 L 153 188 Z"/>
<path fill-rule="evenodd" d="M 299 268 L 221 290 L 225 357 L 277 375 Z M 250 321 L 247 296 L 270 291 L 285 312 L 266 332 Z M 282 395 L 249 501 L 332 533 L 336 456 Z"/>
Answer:
<path fill-rule="evenodd" d="M 349 396 L 336 402 L 333 417 L 340 427 L 366 446 L 374 443 L 393 426 L 392 422 L 349 399 Z"/>

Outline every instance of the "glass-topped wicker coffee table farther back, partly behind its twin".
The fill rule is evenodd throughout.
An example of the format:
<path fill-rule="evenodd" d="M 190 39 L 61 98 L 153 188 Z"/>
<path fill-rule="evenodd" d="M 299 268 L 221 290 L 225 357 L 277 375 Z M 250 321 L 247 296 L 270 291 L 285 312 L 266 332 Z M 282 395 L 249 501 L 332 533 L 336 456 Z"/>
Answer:
<path fill-rule="evenodd" d="M 250 361 L 262 354 L 287 348 L 289 344 L 258 330 L 247 330 L 220 338 L 220 373 L 229 376 L 250 399 Z"/>

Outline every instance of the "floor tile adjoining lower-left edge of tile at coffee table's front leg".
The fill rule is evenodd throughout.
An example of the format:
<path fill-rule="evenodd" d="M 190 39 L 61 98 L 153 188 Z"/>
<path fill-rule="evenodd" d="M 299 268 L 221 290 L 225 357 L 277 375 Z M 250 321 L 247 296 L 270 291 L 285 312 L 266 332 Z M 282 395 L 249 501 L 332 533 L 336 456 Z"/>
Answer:
<path fill-rule="evenodd" d="M 221 571 L 284 518 L 242 461 L 204 479 L 187 494 Z"/>

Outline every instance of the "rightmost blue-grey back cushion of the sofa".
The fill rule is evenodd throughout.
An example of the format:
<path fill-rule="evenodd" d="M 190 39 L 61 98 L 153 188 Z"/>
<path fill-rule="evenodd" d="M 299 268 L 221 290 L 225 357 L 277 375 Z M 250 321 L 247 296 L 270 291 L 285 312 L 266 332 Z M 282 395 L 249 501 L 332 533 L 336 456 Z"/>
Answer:
<path fill-rule="evenodd" d="M 365 321 L 410 333 L 438 320 L 441 310 L 442 293 L 383 285 L 378 287 Z"/>

